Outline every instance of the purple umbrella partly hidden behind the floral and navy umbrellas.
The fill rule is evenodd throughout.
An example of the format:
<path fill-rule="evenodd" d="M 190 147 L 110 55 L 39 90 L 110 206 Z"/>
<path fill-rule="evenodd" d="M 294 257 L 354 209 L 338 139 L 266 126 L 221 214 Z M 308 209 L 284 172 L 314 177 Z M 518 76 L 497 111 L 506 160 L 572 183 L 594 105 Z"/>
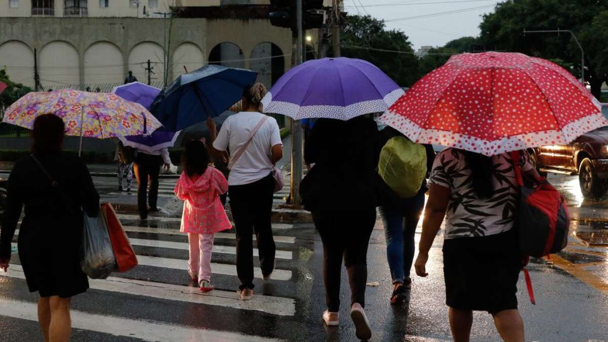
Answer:
<path fill-rule="evenodd" d="M 125 100 L 136 102 L 146 108 L 150 108 L 150 105 L 161 92 L 161 89 L 140 82 L 131 82 L 126 85 L 117 86 L 112 89 L 112 92 Z M 144 152 L 153 153 L 161 148 L 173 147 L 178 135 L 179 131 L 168 132 L 162 131 L 161 128 L 161 130 L 156 130 L 150 135 L 126 136 L 119 137 L 119 139 L 125 146 L 131 146 L 139 148 Z"/>

